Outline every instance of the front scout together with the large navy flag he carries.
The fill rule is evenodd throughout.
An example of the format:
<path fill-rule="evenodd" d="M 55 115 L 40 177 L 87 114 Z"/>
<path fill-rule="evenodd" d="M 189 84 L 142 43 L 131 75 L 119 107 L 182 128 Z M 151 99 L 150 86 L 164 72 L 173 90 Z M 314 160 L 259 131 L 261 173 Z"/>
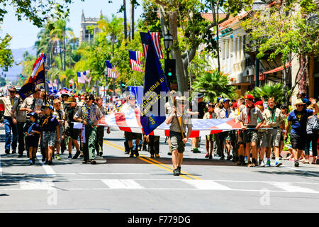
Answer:
<path fill-rule="evenodd" d="M 148 33 L 150 36 L 150 33 Z M 165 95 L 163 95 L 163 92 Z M 145 77 L 144 77 L 144 90 L 142 110 L 140 115 L 140 123 L 142 124 L 145 135 L 149 135 L 166 119 L 165 117 L 165 98 L 169 92 L 167 79 L 164 76 L 162 65 L 159 62 L 159 57 L 155 50 L 155 45 L 152 38 L 148 39 L 148 50 L 145 65 Z M 178 111 L 179 114 L 183 114 L 186 109 L 186 97 L 179 99 Z M 152 111 L 151 111 L 152 109 Z M 174 120 L 174 121 L 173 121 Z M 189 135 L 191 134 L 191 118 L 186 116 L 177 117 L 177 108 L 174 106 L 173 111 L 170 113 L 169 118 L 166 121 L 167 124 L 172 123 L 170 128 L 170 138 L 172 144 L 172 162 L 174 167 L 174 175 L 178 176 L 181 173 L 181 161 L 183 160 L 183 152 L 185 143 L 187 142 Z M 181 123 L 184 123 L 184 130 L 181 128 Z M 185 138 L 184 132 L 187 125 L 189 132 Z M 175 133 L 172 133 L 174 131 Z M 172 134 L 171 134 L 172 133 Z M 182 141 L 183 144 L 179 143 Z"/>

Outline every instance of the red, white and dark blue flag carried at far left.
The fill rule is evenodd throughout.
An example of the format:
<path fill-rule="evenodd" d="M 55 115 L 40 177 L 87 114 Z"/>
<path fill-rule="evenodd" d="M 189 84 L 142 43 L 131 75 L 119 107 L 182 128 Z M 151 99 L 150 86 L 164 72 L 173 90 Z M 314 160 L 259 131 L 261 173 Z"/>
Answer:
<path fill-rule="evenodd" d="M 46 57 L 42 52 L 37 60 L 35 60 L 32 74 L 30 77 L 24 82 L 18 94 L 21 96 L 21 99 L 26 99 L 26 97 L 30 96 L 34 93 L 35 87 L 38 84 L 45 83 L 45 63 Z"/>

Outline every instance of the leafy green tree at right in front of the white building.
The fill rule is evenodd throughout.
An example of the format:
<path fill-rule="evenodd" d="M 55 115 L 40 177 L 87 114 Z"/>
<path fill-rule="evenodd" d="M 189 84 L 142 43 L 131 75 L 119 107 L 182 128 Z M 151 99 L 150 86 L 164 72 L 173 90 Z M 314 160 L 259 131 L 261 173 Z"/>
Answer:
<path fill-rule="evenodd" d="M 318 8 L 313 0 L 280 1 L 274 7 L 255 12 L 252 18 L 242 23 L 250 40 L 248 50 L 258 50 L 258 58 L 267 56 L 274 60 L 277 56 L 281 57 L 286 101 L 289 101 L 297 84 L 301 91 L 306 89 L 309 55 L 318 56 L 319 25 L 310 20 L 316 14 Z M 300 67 L 292 86 L 291 62 L 296 58 Z"/>

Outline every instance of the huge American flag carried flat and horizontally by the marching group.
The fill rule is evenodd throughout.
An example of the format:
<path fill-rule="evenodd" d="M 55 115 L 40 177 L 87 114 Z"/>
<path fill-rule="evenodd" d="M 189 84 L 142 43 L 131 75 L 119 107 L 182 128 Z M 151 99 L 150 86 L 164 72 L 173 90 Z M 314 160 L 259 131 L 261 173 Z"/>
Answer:
<path fill-rule="evenodd" d="M 192 119 L 191 121 L 193 123 L 191 138 L 240 129 L 240 123 L 236 123 L 234 118 Z M 140 111 L 138 111 L 138 109 L 130 109 L 129 111 L 125 111 L 125 113 L 103 116 L 99 121 L 99 125 L 118 128 L 121 131 L 144 133 L 140 123 Z M 170 125 L 164 122 L 158 126 L 155 131 L 152 131 L 150 135 L 169 136 L 169 126 Z"/>

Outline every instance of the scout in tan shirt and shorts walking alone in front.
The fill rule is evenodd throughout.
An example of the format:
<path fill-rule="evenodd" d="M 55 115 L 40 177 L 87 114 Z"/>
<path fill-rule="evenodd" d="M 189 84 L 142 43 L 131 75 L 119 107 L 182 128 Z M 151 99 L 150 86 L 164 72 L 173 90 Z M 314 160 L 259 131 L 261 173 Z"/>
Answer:
<path fill-rule="evenodd" d="M 169 117 L 166 119 L 167 124 L 171 124 L 169 127 L 169 139 L 172 146 L 172 162 L 174 167 L 174 176 L 181 174 L 181 162 L 183 161 L 183 153 L 185 150 L 185 144 L 189 140 L 191 135 L 191 116 L 186 113 L 186 97 L 177 97 L 177 106 L 173 106 Z M 187 135 L 186 126 L 188 128 Z M 183 133 L 183 135 L 181 134 Z"/>

